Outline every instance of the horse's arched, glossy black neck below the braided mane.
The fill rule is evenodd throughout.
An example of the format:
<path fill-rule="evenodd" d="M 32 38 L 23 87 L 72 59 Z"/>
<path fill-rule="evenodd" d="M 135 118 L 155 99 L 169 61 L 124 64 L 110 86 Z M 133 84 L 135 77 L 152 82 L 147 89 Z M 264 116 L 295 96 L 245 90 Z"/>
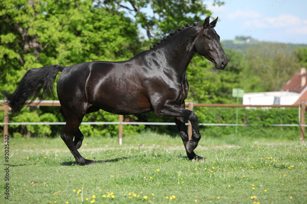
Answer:
<path fill-rule="evenodd" d="M 184 74 L 195 54 L 194 40 L 198 33 L 196 29 L 184 28 L 155 46 L 152 51 L 161 61 L 168 63 L 169 67 Z"/>

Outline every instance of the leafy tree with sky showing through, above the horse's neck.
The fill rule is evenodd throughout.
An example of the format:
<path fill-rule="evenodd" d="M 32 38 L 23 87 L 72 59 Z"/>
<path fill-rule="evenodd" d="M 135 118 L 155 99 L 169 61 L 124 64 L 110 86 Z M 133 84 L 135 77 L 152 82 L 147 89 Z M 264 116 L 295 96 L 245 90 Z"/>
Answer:
<path fill-rule="evenodd" d="M 186 23 L 201 23 L 210 16 L 204 1 L 199 0 L 96 0 L 97 5 L 109 9 L 124 9 L 135 18 L 135 22 L 146 30 L 148 39 L 160 39 Z M 221 5 L 223 2 L 214 1 Z"/>

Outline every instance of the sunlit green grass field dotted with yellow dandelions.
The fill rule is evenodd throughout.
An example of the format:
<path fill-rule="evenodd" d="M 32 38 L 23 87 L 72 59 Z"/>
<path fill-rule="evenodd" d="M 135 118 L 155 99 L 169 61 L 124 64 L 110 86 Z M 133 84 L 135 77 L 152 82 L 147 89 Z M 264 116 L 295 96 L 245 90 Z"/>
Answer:
<path fill-rule="evenodd" d="M 202 138 L 198 162 L 179 137 L 85 138 L 80 153 L 97 165 L 78 166 L 60 138 L 13 138 L 0 203 L 307 203 L 306 143 L 223 141 Z"/>

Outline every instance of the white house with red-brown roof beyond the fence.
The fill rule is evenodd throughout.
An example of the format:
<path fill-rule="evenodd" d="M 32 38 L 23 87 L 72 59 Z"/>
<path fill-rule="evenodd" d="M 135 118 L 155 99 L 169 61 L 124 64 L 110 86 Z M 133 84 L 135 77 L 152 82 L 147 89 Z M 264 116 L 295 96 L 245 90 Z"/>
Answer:
<path fill-rule="evenodd" d="M 306 78 L 306 68 L 301 68 L 281 91 L 245 93 L 243 105 L 293 105 L 299 104 L 302 99 L 307 101 Z"/>

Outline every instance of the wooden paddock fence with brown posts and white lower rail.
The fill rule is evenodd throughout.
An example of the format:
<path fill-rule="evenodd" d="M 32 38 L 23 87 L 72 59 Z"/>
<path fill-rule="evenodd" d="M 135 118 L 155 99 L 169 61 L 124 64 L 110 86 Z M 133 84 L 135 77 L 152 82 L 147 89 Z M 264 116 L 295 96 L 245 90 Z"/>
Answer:
<path fill-rule="evenodd" d="M 38 101 L 31 103 L 29 106 L 35 106 Z M 242 105 L 242 104 L 203 104 L 196 103 L 194 104 L 192 100 L 186 103 L 186 109 L 193 110 L 193 107 L 224 107 L 224 108 L 235 108 L 235 107 L 254 107 L 254 108 L 298 108 L 298 119 L 299 124 L 216 124 L 216 123 L 198 123 L 198 125 L 204 126 L 296 126 L 301 127 L 301 142 L 305 141 L 305 112 L 306 112 L 306 102 L 302 100 L 299 104 L 293 105 Z M 50 101 L 45 100 L 39 103 L 38 106 L 60 106 L 59 101 Z M 4 110 L 4 122 L 0 123 L 0 126 L 3 126 L 3 141 L 5 135 L 8 134 L 9 125 L 65 125 L 65 122 L 9 122 L 8 121 L 8 112 L 10 107 L 4 104 L 3 100 L 1 101 L 0 110 Z M 124 122 L 123 116 L 119 115 L 119 122 L 82 122 L 82 124 L 90 124 L 90 125 L 119 125 L 119 144 L 122 145 L 122 132 L 123 125 L 176 125 L 175 122 L 167 123 L 167 122 Z M 189 139 L 191 139 L 192 135 L 192 125 L 190 121 L 186 123 L 188 126 L 188 135 Z"/>

